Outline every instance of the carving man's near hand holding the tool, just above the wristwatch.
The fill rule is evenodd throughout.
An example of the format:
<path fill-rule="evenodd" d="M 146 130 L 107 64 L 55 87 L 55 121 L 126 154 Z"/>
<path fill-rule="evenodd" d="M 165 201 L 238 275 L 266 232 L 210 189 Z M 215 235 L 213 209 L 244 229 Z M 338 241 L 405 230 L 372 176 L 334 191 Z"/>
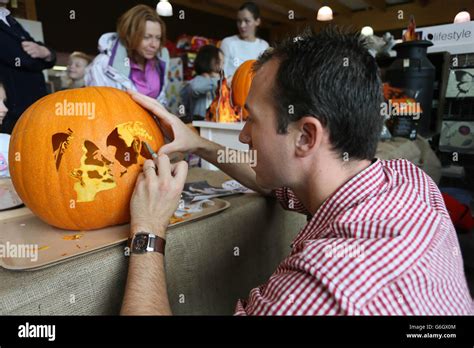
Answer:
<path fill-rule="evenodd" d="M 186 162 L 172 165 L 167 155 L 145 161 L 130 201 L 132 236 L 144 231 L 165 239 L 166 228 L 178 207 L 187 174 Z"/>

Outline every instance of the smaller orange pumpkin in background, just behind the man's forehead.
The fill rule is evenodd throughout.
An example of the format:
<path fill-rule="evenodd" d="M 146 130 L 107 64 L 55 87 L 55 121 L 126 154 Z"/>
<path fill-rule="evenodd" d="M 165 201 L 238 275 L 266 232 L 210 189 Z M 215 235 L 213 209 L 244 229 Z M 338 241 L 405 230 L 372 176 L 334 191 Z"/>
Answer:
<path fill-rule="evenodd" d="M 253 65 L 256 60 L 247 60 L 236 70 L 232 78 L 232 102 L 238 111 L 242 111 L 244 120 L 248 117 L 248 111 L 245 109 L 245 101 L 249 94 L 250 86 L 253 80 Z"/>

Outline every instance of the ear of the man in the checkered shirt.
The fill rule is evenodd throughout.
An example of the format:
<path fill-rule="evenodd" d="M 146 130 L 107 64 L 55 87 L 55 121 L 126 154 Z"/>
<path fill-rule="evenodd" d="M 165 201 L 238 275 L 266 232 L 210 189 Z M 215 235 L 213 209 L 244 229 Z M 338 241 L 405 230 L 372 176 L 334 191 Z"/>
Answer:
<path fill-rule="evenodd" d="M 323 126 L 313 116 L 305 116 L 296 122 L 295 151 L 298 157 L 313 154 L 321 146 Z"/>

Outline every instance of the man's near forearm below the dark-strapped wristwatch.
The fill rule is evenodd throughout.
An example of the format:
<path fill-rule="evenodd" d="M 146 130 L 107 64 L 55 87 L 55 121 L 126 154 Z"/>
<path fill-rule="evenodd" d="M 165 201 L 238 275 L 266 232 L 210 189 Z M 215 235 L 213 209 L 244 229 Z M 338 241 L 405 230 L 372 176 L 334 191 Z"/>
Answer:
<path fill-rule="evenodd" d="M 121 315 L 171 315 L 164 256 L 132 254 Z"/>

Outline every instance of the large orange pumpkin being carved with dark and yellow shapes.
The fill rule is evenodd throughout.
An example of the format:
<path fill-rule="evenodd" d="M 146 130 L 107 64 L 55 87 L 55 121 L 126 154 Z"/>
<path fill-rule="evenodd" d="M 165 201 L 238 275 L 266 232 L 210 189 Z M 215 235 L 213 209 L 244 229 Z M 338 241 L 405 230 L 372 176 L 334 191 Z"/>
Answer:
<path fill-rule="evenodd" d="M 62 91 L 33 104 L 16 124 L 10 173 L 20 198 L 50 225 L 92 230 L 130 220 L 143 162 L 164 141 L 150 114 L 109 87 Z"/>

